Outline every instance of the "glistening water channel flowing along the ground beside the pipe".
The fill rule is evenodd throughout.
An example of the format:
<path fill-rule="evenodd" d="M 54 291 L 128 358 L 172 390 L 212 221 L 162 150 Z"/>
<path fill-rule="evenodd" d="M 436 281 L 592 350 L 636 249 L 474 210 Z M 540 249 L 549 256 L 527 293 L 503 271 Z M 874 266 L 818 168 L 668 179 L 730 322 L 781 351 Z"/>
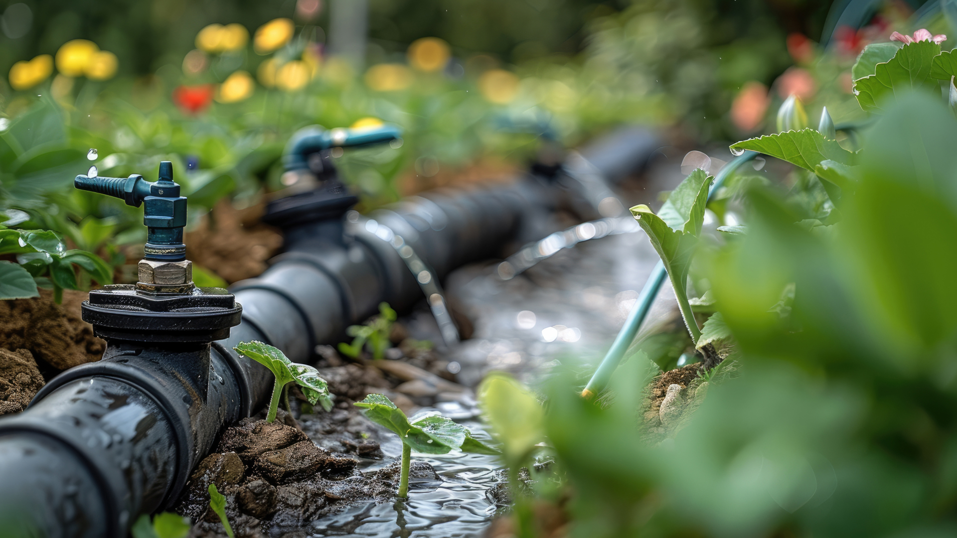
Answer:
<path fill-rule="evenodd" d="M 497 263 L 479 263 L 456 270 L 447 279 L 450 297 L 475 325 L 470 340 L 447 350 L 461 365 L 459 380 L 475 385 L 489 370 L 507 370 L 533 380 L 565 360 L 600 360 L 611 344 L 637 292 L 651 274 L 657 256 L 639 230 L 579 243 L 563 249 L 525 273 L 501 280 Z M 674 304 L 663 289 L 652 319 L 667 317 Z M 428 313 L 411 320 L 420 335 L 434 331 Z M 432 322 L 434 325 L 434 322 Z M 416 337 L 420 337 L 417 335 Z M 438 404 L 437 411 L 473 431 L 482 432 L 477 410 L 466 404 Z M 480 434 L 479 434 L 480 435 Z M 374 471 L 401 454 L 398 437 L 382 444 L 385 460 L 367 460 Z M 460 453 L 426 456 L 441 482 L 411 482 L 409 499 L 399 503 L 353 504 L 295 533 L 275 537 L 465 537 L 481 536 L 502 506 L 497 488 L 505 474 L 494 457 Z"/>

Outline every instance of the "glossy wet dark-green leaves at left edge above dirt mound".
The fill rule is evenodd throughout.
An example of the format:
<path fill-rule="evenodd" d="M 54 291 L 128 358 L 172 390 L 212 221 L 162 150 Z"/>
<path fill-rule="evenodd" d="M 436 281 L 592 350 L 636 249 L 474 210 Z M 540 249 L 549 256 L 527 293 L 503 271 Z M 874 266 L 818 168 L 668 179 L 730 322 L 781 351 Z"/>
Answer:
<path fill-rule="evenodd" d="M 54 300 L 64 289 L 79 289 L 75 265 L 101 284 L 113 282 L 113 269 L 99 256 L 66 250 L 63 238 L 47 230 L 13 230 L 0 223 L 0 255 L 16 255 L 16 263 L 0 261 L 0 299 L 39 297 L 37 286 L 53 287 Z"/>

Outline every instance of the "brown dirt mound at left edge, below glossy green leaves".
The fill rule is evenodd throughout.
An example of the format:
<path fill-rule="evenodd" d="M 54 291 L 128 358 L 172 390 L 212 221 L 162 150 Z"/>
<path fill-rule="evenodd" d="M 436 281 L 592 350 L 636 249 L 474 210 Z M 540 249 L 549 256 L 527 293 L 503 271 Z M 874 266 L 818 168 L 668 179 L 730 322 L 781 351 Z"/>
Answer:
<path fill-rule="evenodd" d="M 88 293 L 63 290 L 63 303 L 56 304 L 53 291 L 40 290 L 40 297 L 0 301 L 0 348 L 28 349 L 45 373 L 99 361 L 106 342 L 93 336 L 93 325 L 79 317 L 80 303 Z"/>

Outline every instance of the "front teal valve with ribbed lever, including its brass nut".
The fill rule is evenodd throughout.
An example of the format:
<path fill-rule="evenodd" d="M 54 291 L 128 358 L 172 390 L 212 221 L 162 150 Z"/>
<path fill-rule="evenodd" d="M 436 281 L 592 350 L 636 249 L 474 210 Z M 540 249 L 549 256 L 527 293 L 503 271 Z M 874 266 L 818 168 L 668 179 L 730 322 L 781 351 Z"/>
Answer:
<path fill-rule="evenodd" d="M 139 174 L 127 178 L 78 175 L 74 187 L 120 198 L 134 208 L 145 203 L 145 256 L 140 260 L 137 288 L 153 293 L 185 293 L 193 288 L 192 264 L 183 244 L 186 196 L 180 196 L 180 186 L 173 183 L 171 162 L 160 163 L 159 176 L 159 181 L 150 183 Z"/>

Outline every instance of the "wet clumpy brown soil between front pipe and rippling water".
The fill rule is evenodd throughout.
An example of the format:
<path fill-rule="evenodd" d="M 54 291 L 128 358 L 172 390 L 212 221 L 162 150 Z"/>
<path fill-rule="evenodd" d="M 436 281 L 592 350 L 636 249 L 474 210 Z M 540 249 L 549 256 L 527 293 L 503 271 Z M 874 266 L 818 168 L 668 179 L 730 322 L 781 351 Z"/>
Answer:
<path fill-rule="evenodd" d="M 371 452 L 381 457 L 379 443 L 373 438 L 378 430 L 365 416 L 345 409 L 323 415 L 336 413 L 361 417 L 344 421 L 363 430 L 354 435 L 361 440 L 352 442 L 374 448 Z M 218 517 L 209 509 L 210 483 L 226 497 L 227 517 L 235 535 L 242 537 L 265 536 L 267 528 L 301 527 L 347 504 L 386 501 L 395 495 L 398 462 L 379 471 L 359 472 L 355 470 L 359 460 L 317 446 L 300 430 L 281 423 L 284 412 L 280 410 L 279 415 L 272 424 L 242 420 L 227 429 L 215 452 L 200 462 L 176 507 L 178 513 L 197 522 L 190 537 L 224 536 Z M 300 421 L 307 432 L 316 432 L 310 415 L 300 415 Z M 316 436 L 323 440 L 353 437 L 347 427 L 333 430 L 329 435 L 316 432 Z M 432 466 L 422 461 L 412 462 L 411 477 L 415 481 L 441 480 Z"/>

